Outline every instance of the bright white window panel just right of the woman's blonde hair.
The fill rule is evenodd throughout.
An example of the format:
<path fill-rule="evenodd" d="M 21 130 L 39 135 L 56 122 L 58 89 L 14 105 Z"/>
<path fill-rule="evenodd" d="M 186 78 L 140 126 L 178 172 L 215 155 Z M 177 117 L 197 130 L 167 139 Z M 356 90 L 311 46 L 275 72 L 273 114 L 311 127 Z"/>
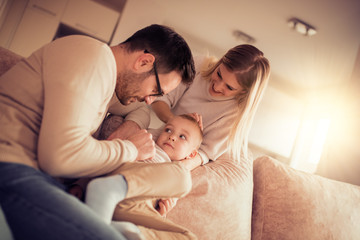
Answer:
<path fill-rule="evenodd" d="M 249 135 L 253 151 L 289 163 L 303 112 L 304 104 L 300 99 L 269 85 Z"/>

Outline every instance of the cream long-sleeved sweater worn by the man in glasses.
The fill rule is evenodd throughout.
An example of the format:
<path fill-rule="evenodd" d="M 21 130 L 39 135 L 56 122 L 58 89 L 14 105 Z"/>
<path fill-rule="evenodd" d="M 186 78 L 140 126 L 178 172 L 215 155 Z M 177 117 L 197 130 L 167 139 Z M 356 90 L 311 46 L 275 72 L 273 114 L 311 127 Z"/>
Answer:
<path fill-rule="evenodd" d="M 59 177 L 102 175 L 133 161 L 130 141 L 92 136 L 111 103 L 113 112 L 148 127 L 147 107 L 121 105 L 115 84 L 111 49 L 89 37 L 55 40 L 22 60 L 0 78 L 0 161 Z"/>

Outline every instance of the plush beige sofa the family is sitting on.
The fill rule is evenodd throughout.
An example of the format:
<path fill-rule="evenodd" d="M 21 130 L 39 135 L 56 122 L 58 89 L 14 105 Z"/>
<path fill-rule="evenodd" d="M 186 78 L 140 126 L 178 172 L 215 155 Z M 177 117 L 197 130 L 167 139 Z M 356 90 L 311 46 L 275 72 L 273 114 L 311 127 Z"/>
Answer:
<path fill-rule="evenodd" d="M 0 48 L 0 75 L 21 57 Z M 220 159 L 192 171 L 168 214 L 201 240 L 360 239 L 360 187 L 271 158 Z M 0 212 L 0 239 L 11 239 Z"/>

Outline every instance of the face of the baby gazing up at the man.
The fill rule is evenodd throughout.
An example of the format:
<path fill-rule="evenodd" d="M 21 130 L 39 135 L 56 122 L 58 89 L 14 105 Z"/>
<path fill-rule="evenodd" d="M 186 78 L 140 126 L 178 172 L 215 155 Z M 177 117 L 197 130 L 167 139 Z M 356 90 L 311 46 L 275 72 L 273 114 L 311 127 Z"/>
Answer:
<path fill-rule="evenodd" d="M 182 117 L 174 117 L 166 124 L 156 144 L 172 161 L 178 161 L 197 150 L 200 141 L 199 134 L 196 123 Z"/>

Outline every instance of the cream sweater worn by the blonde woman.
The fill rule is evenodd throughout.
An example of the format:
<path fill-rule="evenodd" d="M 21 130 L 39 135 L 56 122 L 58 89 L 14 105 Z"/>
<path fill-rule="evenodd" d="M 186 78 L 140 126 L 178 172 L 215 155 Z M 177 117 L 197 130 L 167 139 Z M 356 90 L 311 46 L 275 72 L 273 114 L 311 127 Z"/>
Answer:
<path fill-rule="evenodd" d="M 227 140 L 237 114 L 234 98 L 214 98 L 209 93 L 210 82 L 199 72 L 204 58 L 196 58 L 194 82 L 180 84 L 169 94 L 156 99 L 167 103 L 175 115 L 196 112 L 202 115 L 204 139 L 199 149 L 203 164 L 215 161 L 227 152 Z"/>

